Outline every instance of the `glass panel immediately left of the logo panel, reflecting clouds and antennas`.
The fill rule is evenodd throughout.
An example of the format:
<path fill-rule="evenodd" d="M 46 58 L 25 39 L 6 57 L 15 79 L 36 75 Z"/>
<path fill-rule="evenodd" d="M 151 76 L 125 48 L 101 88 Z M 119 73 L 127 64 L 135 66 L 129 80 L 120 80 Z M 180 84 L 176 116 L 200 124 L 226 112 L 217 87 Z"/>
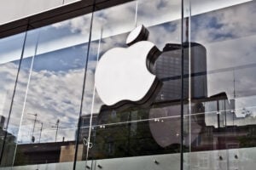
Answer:
<path fill-rule="evenodd" d="M 15 131 L 15 154 L 8 166 L 35 169 L 69 161 L 66 167 L 73 167 L 90 18 L 28 31 L 9 127 Z"/>

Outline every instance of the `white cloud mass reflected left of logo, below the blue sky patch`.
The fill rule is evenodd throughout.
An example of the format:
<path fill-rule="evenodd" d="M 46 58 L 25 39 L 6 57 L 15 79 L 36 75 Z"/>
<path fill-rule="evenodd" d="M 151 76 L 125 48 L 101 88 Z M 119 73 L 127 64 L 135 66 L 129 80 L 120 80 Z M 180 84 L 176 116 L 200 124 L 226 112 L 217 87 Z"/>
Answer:
<path fill-rule="evenodd" d="M 9 74 L 15 71 L 15 65 L 5 66 Z M 87 82 L 85 86 L 84 111 L 83 114 L 90 114 L 92 95 L 94 87 L 94 69 L 96 62 L 90 62 L 87 71 Z M 58 140 L 65 137 L 65 140 L 74 140 L 79 118 L 79 108 L 82 94 L 84 69 L 73 69 L 67 71 L 32 71 L 32 78 L 28 88 L 24 117 L 20 127 L 19 141 L 26 143 L 31 141 L 32 126 L 35 116 L 27 113 L 38 114 L 38 121 L 44 123 L 42 142 L 55 141 L 55 122 L 60 119 L 60 130 Z M 9 132 L 17 135 L 20 126 L 20 117 L 24 96 L 26 94 L 26 81 L 28 72 L 20 71 L 20 83 L 15 95 L 15 104 L 12 111 Z M 15 77 L 10 77 L 14 79 Z M 101 100 L 96 97 L 94 111 L 98 112 L 102 105 Z M 9 109 L 9 108 L 8 108 Z M 34 136 L 38 141 L 40 124 L 36 123 Z"/>

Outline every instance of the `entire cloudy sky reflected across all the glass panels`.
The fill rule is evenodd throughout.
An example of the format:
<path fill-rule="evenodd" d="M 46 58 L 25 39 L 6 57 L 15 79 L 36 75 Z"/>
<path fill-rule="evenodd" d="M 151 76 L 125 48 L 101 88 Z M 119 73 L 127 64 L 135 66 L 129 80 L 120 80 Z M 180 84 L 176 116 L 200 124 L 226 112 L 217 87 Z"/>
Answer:
<path fill-rule="evenodd" d="M 143 3 L 138 4 L 139 11 L 137 22 L 145 23 L 145 26 L 150 26 L 149 40 L 154 42 L 160 49 L 165 46 L 166 42 L 180 42 L 180 22 L 177 21 L 175 17 L 174 20 L 174 18 L 168 18 L 166 16 L 168 14 L 170 14 L 170 16 L 172 15 L 170 8 L 177 8 L 179 6 L 178 3 L 171 2 L 172 1 L 152 1 L 152 3 L 145 3 L 146 5 L 143 5 Z M 108 8 L 96 12 L 93 25 L 95 29 L 92 32 L 94 42 L 91 43 L 90 47 L 90 60 L 87 71 L 84 114 L 90 113 L 90 106 L 92 104 L 91 98 L 93 95 L 94 71 L 98 48 L 96 39 L 100 37 L 101 28 L 103 32 L 102 37 L 105 37 L 101 44 L 101 54 L 109 48 L 124 46 L 127 32 L 131 31 L 134 27 L 135 4 L 134 2 L 127 3 L 124 6 Z M 150 10 L 148 10 L 148 8 L 150 8 Z M 129 16 L 129 19 L 124 20 L 124 18 L 117 15 L 117 10 L 122 11 L 123 16 Z M 166 13 L 166 11 L 168 11 L 168 13 Z M 177 9 L 175 11 L 178 12 Z M 162 17 L 163 15 L 166 17 Z M 192 17 L 191 39 L 194 42 L 201 42 L 201 44 L 207 48 L 208 71 L 225 67 L 235 67 L 236 70 L 237 65 L 247 65 L 255 61 L 254 34 L 256 26 L 253 20 L 255 15 L 255 3 L 248 3 Z M 158 17 L 162 17 L 163 19 L 160 25 L 156 23 L 159 22 Z M 58 118 L 61 119 L 60 126 L 65 127 L 62 133 L 60 133 L 60 136 L 66 136 L 67 139 L 73 139 L 74 137 L 74 128 L 79 113 L 80 95 L 84 76 L 84 56 L 86 54 L 84 42 L 88 42 L 89 20 L 90 15 L 86 15 L 39 29 L 41 33 L 38 42 L 38 55 L 33 64 L 32 79 L 26 99 L 25 113 L 37 112 L 38 119 L 45 122 L 46 130 L 43 133 L 42 139 L 47 139 L 46 141 L 53 141 L 54 135 L 49 136 L 48 134 L 54 133 L 54 130 L 50 127 Z M 168 20 L 174 21 L 168 23 L 166 22 Z M 162 24 L 163 22 L 165 23 Z M 31 31 L 28 34 L 25 51 L 26 56 L 32 56 L 34 53 L 34 44 L 37 41 L 37 34 L 38 31 Z M 3 50 L 1 48 L 3 58 L 8 58 L 9 56 L 20 57 L 23 42 L 22 38 L 24 38 L 24 34 L 10 37 L 9 40 L 1 40 L 0 47 L 3 47 Z M 74 44 L 82 45 L 74 46 Z M 1 60 L 1 62 L 5 61 L 4 59 Z M 14 63 L 6 63 L 0 67 L 6 71 L 4 74 L 7 75 L 5 79 L 4 74 L 1 75 L 1 77 L 3 77 L 1 78 L 3 84 L 7 84 L 9 78 L 11 78 L 9 83 L 14 83 L 17 65 L 18 62 L 16 61 Z M 30 65 L 31 58 L 23 59 L 22 69 L 20 71 L 20 83 L 17 91 L 18 94 L 25 94 Z M 3 70 L 1 70 L 1 73 Z M 255 105 L 255 99 L 253 99 L 253 97 L 250 99 L 246 98 L 247 95 L 252 95 L 256 91 L 254 88 L 254 72 L 254 68 L 236 70 L 236 96 L 239 97 L 239 99 L 236 99 L 237 108 Z M 10 75 L 10 77 L 8 77 L 8 75 Z M 209 74 L 207 77 L 208 94 L 218 94 L 224 91 L 232 98 L 232 81 L 234 80 L 232 75 L 232 71 Z M 1 88 L 1 95 L 6 96 L 6 91 L 8 91 L 8 87 L 3 86 Z M 13 126 L 11 126 L 11 128 L 15 129 L 12 129 L 15 133 L 17 133 L 18 117 L 20 117 L 20 111 L 22 111 L 23 105 L 22 102 L 24 101 L 22 96 L 24 95 L 15 96 L 13 117 L 16 117 L 16 119 L 12 122 Z M 2 101 L 2 103 L 4 103 L 4 101 Z M 102 102 L 96 97 L 93 112 L 98 112 L 101 105 Z M 253 110 L 251 111 L 253 112 L 253 116 L 255 116 L 255 112 Z M 22 133 L 20 134 L 20 138 L 24 137 L 25 139 L 22 139 L 24 142 L 29 140 L 27 137 L 29 136 L 28 134 L 31 134 L 32 121 L 26 120 L 28 117 L 30 119 L 33 118 L 33 116 L 25 116 L 22 122 L 23 127 L 21 127 Z M 252 122 L 253 121 L 245 121 L 243 123 L 247 124 Z M 65 129 L 67 129 L 67 131 L 65 131 Z"/>

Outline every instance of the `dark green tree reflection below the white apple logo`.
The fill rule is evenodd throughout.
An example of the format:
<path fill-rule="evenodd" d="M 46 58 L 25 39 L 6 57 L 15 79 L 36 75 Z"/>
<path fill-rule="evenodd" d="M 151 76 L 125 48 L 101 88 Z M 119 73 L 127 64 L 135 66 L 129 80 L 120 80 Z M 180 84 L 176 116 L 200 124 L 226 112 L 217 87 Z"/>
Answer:
<path fill-rule="evenodd" d="M 180 144 L 165 148 L 154 141 L 149 129 L 149 108 L 132 107 L 125 111 L 101 112 L 91 137 L 89 159 L 146 156 L 179 152 Z"/>

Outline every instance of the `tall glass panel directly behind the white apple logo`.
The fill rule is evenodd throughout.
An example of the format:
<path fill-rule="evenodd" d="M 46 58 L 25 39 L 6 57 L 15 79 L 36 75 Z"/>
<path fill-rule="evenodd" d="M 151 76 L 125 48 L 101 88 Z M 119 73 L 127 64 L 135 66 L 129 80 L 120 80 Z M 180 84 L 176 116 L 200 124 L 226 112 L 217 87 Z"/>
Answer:
<path fill-rule="evenodd" d="M 169 166 L 170 160 L 176 160 L 172 162 L 172 166 L 179 169 L 182 90 L 179 86 L 180 7 L 180 1 L 135 1 L 94 13 L 81 117 L 83 123 L 79 135 L 81 143 L 84 141 L 87 144 L 87 150 L 83 150 L 84 160 L 88 158 L 94 161 L 90 163 L 85 161 L 84 168 L 119 169 L 120 166 L 122 169 L 153 169 L 154 166 L 165 168 Z M 140 84 L 139 80 L 130 83 L 134 81 L 133 72 L 139 75 L 141 67 L 127 71 L 125 77 L 119 76 L 122 75 L 122 69 L 134 66 L 129 65 L 133 56 L 139 59 L 141 55 L 145 55 L 139 54 L 140 52 L 132 54 L 132 51 L 131 55 L 125 55 L 125 50 L 128 50 L 125 44 L 126 38 L 136 26 L 141 25 L 148 29 L 148 41 L 154 43 L 162 52 L 155 63 L 154 59 L 148 61 L 151 62 L 148 70 L 156 75 L 161 86 L 151 88 L 152 96 L 145 99 L 146 101 L 142 99 L 139 102 L 122 103 L 119 102 L 122 100 L 120 99 L 115 101 L 116 105 L 108 105 L 104 103 L 106 100 L 102 98 L 102 94 L 99 94 L 101 89 L 108 94 L 107 98 L 113 99 L 125 93 L 129 95 L 131 89 L 136 90 L 145 83 L 141 81 Z M 132 44 L 130 48 L 138 43 Z M 115 88 L 109 86 L 110 88 L 104 89 L 107 87 L 105 83 L 102 83 L 103 88 L 97 88 L 96 70 L 100 68 L 99 63 L 104 59 L 106 52 L 110 49 L 114 51 L 113 48 L 123 50 L 124 54 L 108 56 L 116 59 L 112 60 L 113 63 L 108 63 L 113 67 L 109 67 L 105 72 L 108 74 L 119 65 L 123 67 L 120 67 L 120 71 L 113 71 L 111 77 L 102 77 L 99 80 L 107 80 L 106 82 L 113 83 L 112 87 Z M 125 56 L 128 59 L 125 59 Z M 126 60 L 125 64 L 124 60 Z M 146 60 L 142 65 L 144 67 L 147 65 Z M 120 80 L 127 81 L 126 85 Z M 119 87 L 122 85 L 127 88 Z M 117 88 L 121 90 L 118 91 Z M 143 167 L 145 165 L 143 161 L 148 162 L 148 167 Z"/>

